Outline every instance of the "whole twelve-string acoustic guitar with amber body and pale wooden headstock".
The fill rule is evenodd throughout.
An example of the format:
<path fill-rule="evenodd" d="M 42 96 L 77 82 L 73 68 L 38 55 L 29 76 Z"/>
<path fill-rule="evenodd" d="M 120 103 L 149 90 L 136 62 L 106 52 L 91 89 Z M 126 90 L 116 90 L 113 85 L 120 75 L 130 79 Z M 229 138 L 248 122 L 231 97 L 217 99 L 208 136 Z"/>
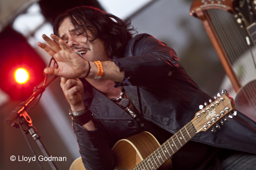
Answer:
<path fill-rule="evenodd" d="M 200 105 L 200 111 L 195 113 L 195 118 L 188 122 L 183 128 L 175 133 L 162 145 L 156 138 L 148 133 L 142 132 L 131 137 L 121 139 L 113 146 L 112 151 L 117 158 L 115 170 L 166 170 L 172 168 L 171 156 L 184 146 L 192 137 L 201 131 L 212 129 L 216 132 L 220 126 L 217 124 L 223 120 L 228 122 L 228 117 L 236 116 L 234 99 L 229 97 L 226 90 L 224 94 L 218 93 L 216 100 L 209 100 L 210 104 Z M 232 112 L 233 111 L 233 112 Z M 69 170 L 86 170 L 82 159 L 75 160 Z"/>

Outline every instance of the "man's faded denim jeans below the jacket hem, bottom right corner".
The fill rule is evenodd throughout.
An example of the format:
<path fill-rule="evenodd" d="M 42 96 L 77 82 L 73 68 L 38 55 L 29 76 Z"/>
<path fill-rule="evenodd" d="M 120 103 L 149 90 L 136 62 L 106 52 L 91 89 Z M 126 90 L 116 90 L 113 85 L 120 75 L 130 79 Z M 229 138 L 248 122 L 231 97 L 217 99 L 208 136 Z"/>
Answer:
<path fill-rule="evenodd" d="M 256 155 L 236 152 L 221 160 L 223 170 L 256 170 Z"/>

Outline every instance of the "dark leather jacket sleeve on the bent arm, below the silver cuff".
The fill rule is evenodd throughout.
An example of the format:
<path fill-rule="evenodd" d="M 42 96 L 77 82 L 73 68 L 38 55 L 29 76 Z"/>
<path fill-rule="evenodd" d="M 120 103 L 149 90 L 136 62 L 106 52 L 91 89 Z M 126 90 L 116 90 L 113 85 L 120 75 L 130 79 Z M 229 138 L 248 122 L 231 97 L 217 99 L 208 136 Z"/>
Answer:
<path fill-rule="evenodd" d="M 108 145 L 108 137 L 100 126 L 95 124 L 95 127 L 96 130 L 88 131 L 73 122 L 84 167 L 86 170 L 113 170 L 116 160 Z"/>

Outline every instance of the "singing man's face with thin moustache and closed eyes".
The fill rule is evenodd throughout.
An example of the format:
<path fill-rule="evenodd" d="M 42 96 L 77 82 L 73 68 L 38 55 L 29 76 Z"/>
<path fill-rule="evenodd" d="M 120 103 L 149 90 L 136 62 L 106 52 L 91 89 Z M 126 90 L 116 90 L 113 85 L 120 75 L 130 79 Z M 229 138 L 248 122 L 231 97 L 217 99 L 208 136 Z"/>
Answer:
<path fill-rule="evenodd" d="M 83 36 L 83 29 L 79 30 L 79 32 L 75 29 L 70 18 L 63 20 L 58 31 L 59 37 L 71 46 L 74 51 L 80 52 L 86 61 L 106 61 L 108 56 L 103 41 L 99 38 L 89 41 L 92 39 L 90 31 L 87 31 L 88 37 Z"/>

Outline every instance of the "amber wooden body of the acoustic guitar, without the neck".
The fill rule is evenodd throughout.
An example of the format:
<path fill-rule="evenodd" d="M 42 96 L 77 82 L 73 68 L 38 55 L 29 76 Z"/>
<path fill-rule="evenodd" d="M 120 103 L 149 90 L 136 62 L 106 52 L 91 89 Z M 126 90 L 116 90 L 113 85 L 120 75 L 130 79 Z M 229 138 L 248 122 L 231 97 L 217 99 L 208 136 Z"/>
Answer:
<path fill-rule="evenodd" d="M 115 170 L 133 169 L 159 146 L 160 144 L 156 138 L 148 132 L 141 132 L 117 141 L 112 148 L 117 159 Z M 168 159 L 159 169 L 167 170 L 171 168 L 172 160 Z M 69 170 L 86 170 L 82 158 L 77 158 Z"/>

